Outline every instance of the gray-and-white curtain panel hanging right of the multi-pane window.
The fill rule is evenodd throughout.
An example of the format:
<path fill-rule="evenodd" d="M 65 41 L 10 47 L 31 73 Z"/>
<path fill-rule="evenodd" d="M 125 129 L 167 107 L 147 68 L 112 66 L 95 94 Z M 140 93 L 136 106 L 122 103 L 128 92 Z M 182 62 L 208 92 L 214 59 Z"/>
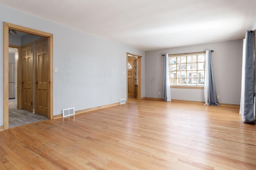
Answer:
<path fill-rule="evenodd" d="M 216 90 L 215 90 L 215 85 L 214 85 L 214 79 L 213 79 L 213 70 L 212 70 L 212 52 L 210 50 L 206 51 L 208 52 L 209 55 L 209 60 L 208 60 L 208 76 L 209 78 L 209 84 L 208 84 L 208 104 L 207 105 L 216 105 L 219 106 L 218 100 L 217 100 L 217 95 L 216 95 Z"/>

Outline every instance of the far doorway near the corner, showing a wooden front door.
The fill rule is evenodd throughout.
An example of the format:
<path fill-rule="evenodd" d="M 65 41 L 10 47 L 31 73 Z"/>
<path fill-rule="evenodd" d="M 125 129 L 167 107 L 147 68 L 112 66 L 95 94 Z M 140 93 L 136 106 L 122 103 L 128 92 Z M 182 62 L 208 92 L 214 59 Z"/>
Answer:
<path fill-rule="evenodd" d="M 127 100 L 141 100 L 141 56 L 127 53 Z"/>

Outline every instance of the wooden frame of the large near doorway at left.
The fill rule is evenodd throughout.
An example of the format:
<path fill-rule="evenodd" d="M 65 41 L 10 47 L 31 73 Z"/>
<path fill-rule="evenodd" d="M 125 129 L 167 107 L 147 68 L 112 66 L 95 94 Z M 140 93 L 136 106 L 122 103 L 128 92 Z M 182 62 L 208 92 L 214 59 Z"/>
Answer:
<path fill-rule="evenodd" d="M 48 119 L 53 119 L 53 34 L 4 22 L 4 129 L 9 128 L 9 29 L 48 37 L 49 50 L 49 100 Z"/>

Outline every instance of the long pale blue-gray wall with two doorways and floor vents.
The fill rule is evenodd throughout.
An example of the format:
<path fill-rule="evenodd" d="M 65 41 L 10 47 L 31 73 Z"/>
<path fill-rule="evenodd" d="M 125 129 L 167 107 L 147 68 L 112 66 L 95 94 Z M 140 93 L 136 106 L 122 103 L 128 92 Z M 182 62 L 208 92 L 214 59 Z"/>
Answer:
<path fill-rule="evenodd" d="M 0 5 L 0 126 L 4 124 L 4 21 L 54 35 L 53 65 L 58 68 L 53 74 L 54 115 L 65 108 L 80 110 L 126 98 L 127 52 L 142 56 L 145 97 L 144 51 Z"/>

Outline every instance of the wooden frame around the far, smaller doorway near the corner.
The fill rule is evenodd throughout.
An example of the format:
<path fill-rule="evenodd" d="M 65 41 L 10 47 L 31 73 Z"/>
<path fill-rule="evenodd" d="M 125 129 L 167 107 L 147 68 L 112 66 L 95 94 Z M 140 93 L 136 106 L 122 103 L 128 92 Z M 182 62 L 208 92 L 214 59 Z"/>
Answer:
<path fill-rule="evenodd" d="M 126 53 L 126 101 L 128 100 L 128 55 L 132 55 L 134 57 L 138 58 L 138 96 L 137 99 L 141 100 L 141 56 L 140 55 L 135 55 L 131 53 Z"/>

